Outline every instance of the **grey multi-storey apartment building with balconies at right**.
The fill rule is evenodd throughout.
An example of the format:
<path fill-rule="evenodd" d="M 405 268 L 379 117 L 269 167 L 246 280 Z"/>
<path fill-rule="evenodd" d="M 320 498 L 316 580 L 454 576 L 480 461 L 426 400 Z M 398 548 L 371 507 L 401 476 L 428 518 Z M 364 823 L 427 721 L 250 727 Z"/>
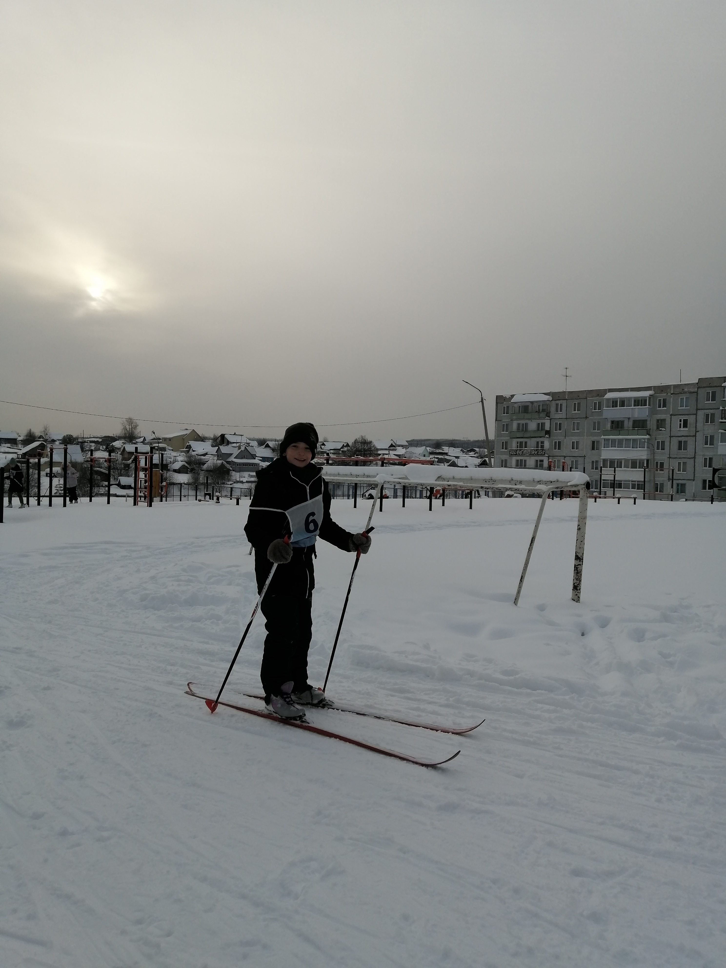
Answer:
<path fill-rule="evenodd" d="M 581 470 L 603 490 L 710 499 L 713 469 L 726 469 L 726 380 L 498 396 L 495 447 L 500 468 Z"/>

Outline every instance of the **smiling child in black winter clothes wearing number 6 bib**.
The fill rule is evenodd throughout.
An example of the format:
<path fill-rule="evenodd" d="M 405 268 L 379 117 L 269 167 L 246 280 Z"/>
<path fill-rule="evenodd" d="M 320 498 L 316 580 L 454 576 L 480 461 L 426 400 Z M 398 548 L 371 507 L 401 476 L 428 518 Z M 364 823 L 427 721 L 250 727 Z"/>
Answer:
<path fill-rule="evenodd" d="M 267 636 L 260 679 L 268 711 L 287 719 L 302 716 L 300 706 L 318 706 L 325 696 L 308 682 L 308 650 L 313 637 L 316 539 L 342 551 L 365 555 L 367 534 L 351 534 L 330 517 L 330 494 L 312 464 L 318 432 L 311 423 L 287 428 L 280 456 L 257 471 L 255 496 L 245 533 L 255 549 L 257 591 L 273 564 L 278 568 L 261 603 Z M 285 538 L 289 543 L 286 543 Z"/>

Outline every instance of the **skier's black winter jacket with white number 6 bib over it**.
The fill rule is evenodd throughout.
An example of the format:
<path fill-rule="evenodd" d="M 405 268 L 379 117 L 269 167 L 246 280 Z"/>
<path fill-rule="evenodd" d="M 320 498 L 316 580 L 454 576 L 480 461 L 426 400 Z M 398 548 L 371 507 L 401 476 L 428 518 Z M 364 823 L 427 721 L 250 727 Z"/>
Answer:
<path fill-rule="evenodd" d="M 267 580 L 272 563 L 267 549 L 275 538 L 290 536 L 292 560 L 281 564 L 268 594 L 307 598 L 316 587 L 315 541 L 321 537 L 342 551 L 349 551 L 350 531 L 330 517 L 330 493 L 315 464 L 296 468 L 278 457 L 257 471 L 257 487 L 250 502 L 245 534 L 255 549 L 257 591 Z"/>

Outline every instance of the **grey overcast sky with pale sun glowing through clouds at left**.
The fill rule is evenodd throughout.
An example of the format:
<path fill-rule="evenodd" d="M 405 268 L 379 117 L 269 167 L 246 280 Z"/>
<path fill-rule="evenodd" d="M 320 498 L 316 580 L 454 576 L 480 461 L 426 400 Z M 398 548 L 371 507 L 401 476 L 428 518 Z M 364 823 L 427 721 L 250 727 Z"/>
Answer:
<path fill-rule="evenodd" d="M 565 365 L 721 375 L 724 50 L 722 0 L 4 0 L 0 397 L 272 435 L 466 378 L 491 430 Z M 45 422 L 118 428 L 0 404 Z"/>

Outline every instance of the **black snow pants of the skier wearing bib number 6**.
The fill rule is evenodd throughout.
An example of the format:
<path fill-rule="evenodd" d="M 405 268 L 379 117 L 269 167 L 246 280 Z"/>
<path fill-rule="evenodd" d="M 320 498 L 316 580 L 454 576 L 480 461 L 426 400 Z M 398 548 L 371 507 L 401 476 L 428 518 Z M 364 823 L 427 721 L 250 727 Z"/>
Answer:
<path fill-rule="evenodd" d="M 292 691 L 308 684 L 308 650 L 313 638 L 313 595 L 292 598 L 265 595 L 262 599 L 267 636 L 259 678 L 265 696 L 280 695 L 280 687 L 293 682 Z"/>

